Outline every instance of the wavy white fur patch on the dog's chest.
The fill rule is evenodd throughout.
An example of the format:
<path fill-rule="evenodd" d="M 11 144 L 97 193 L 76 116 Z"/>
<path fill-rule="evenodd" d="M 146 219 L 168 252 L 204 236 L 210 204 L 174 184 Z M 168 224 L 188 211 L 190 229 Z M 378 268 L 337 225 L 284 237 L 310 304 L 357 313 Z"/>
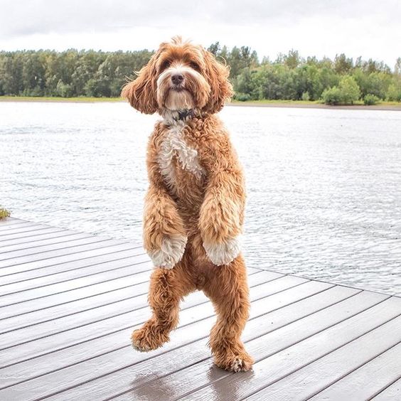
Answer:
<path fill-rule="evenodd" d="M 201 178 L 205 173 L 205 170 L 199 164 L 198 151 L 188 146 L 183 136 L 184 127 L 185 122 L 174 122 L 161 142 L 157 157 L 161 174 L 171 186 L 176 182 L 176 164 L 174 163 L 174 158 L 178 161 L 181 169 L 190 171 L 196 178 Z"/>

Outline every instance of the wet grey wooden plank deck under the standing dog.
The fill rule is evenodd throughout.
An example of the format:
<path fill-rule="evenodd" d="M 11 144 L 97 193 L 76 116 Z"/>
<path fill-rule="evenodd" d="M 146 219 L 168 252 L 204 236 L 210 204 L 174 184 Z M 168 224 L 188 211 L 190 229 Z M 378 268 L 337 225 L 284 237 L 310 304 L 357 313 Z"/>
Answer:
<path fill-rule="evenodd" d="M 130 242 L 0 222 L 0 400 L 401 400 L 401 298 L 249 269 L 248 373 L 213 366 L 202 293 L 171 342 L 129 343 L 151 263 Z"/>

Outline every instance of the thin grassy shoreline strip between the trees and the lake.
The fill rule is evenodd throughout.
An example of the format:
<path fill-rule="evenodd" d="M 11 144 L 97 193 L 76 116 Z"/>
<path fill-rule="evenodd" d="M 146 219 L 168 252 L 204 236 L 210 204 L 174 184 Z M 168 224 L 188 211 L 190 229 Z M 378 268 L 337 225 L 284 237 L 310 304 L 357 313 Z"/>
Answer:
<path fill-rule="evenodd" d="M 26 97 L 26 96 L 0 96 L 0 102 L 49 102 L 49 103 L 116 103 L 126 102 L 120 97 Z M 378 105 L 324 105 L 319 102 L 301 100 L 260 100 L 247 102 L 228 102 L 231 107 L 294 107 L 299 109 L 351 109 L 351 110 L 389 110 L 401 111 L 401 103 L 382 102 Z"/>

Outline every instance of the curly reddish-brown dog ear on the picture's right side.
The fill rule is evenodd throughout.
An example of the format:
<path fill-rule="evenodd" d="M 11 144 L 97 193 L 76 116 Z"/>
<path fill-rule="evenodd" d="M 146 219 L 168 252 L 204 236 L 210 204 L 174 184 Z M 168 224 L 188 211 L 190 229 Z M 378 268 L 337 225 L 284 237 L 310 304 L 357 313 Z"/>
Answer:
<path fill-rule="evenodd" d="M 226 100 L 230 100 L 233 95 L 232 85 L 228 80 L 230 70 L 227 65 L 218 63 L 215 56 L 203 50 L 203 57 L 205 61 L 205 74 L 207 75 L 210 85 L 209 100 L 203 109 L 209 113 L 217 113 L 223 109 Z"/>

